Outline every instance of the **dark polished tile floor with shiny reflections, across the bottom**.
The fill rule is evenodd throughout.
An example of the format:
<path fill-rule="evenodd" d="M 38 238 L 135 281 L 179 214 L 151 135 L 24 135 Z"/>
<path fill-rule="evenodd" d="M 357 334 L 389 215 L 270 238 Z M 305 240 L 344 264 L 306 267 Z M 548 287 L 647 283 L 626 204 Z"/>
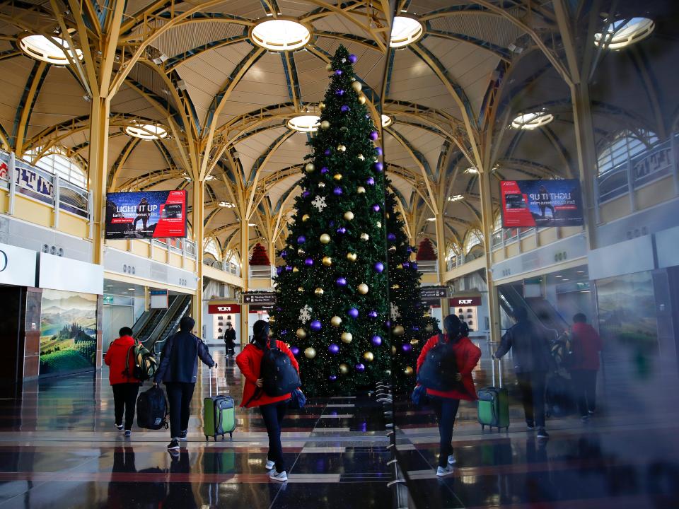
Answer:
<path fill-rule="evenodd" d="M 219 392 L 238 401 L 237 368 L 224 351 L 215 356 Z M 487 368 L 482 362 L 475 372 L 480 386 L 489 383 Z M 374 397 L 291 411 L 289 481 L 277 484 L 264 469 L 267 438 L 256 411 L 239 409 L 233 440 L 204 440 L 209 378 L 201 373 L 178 457 L 166 452 L 167 431 L 135 427 L 126 439 L 113 428 L 106 371 L 27 383 L 21 402 L 0 402 L 0 509 L 396 507 L 387 486 L 388 423 Z M 506 382 L 516 394 L 509 373 Z M 458 466 L 438 479 L 431 412 L 396 402 L 412 507 L 679 508 L 678 406 L 651 415 L 601 408 L 586 425 L 575 416 L 550 419 L 552 437 L 543 443 L 525 431 L 516 400 L 509 433 L 482 433 L 475 406 L 463 404 L 453 438 Z"/>

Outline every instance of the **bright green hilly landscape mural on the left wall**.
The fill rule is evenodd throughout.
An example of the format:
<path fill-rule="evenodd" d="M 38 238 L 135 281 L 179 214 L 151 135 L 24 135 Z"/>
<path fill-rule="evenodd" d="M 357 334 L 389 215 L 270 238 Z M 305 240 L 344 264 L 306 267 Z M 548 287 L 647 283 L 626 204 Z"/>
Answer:
<path fill-rule="evenodd" d="M 93 370 L 97 352 L 97 296 L 42 292 L 40 375 Z"/>

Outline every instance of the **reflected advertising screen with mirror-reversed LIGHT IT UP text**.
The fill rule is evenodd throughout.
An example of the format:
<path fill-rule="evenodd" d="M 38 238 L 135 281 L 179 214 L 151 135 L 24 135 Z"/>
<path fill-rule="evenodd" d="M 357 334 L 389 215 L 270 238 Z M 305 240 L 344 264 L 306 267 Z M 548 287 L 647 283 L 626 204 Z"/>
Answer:
<path fill-rule="evenodd" d="M 503 228 L 582 226 L 580 181 L 502 180 Z"/>

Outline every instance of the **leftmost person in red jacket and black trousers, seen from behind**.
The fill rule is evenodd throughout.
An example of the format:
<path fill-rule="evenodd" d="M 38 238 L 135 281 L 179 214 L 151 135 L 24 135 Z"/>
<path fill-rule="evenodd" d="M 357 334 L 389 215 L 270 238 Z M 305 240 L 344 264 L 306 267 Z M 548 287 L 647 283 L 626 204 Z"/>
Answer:
<path fill-rule="evenodd" d="M 134 423 L 134 405 L 137 404 L 141 380 L 127 372 L 127 356 L 130 347 L 137 344 L 137 340 L 132 337 L 132 329 L 129 327 L 122 327 L 119 333 L 120 337 L 114 339 L 108 346 L 104 362 L 109 366 L 108 381 L 113 389 L 115 427 L 122 431 L 124 411 L 125 436 L 130 436 L 132 435 L 132 423 Z M 129 365 L 132 366 L 132 362 Z"/>

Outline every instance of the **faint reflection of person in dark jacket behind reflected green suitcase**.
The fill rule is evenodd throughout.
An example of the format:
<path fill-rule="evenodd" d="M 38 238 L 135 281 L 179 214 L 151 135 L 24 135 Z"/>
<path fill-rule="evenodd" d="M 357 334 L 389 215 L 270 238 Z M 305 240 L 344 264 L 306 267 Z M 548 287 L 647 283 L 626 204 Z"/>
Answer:
<path fill-rule="evenodd" d="M 538 427 L 538 438 L 549 438 L 545 431 L 545 381 L 547 373 L 555 370 L 555 361 L 550 352 L 549 338 L 545 330 L 528 320 L 526 308 L 516 308 L 512 315 L 516 323 L 502 336 L 500 347 L 493 354 L 502 358 L 513 351 L 514 372 L 521 390 L 526 426 L 529 430 Z"/>

